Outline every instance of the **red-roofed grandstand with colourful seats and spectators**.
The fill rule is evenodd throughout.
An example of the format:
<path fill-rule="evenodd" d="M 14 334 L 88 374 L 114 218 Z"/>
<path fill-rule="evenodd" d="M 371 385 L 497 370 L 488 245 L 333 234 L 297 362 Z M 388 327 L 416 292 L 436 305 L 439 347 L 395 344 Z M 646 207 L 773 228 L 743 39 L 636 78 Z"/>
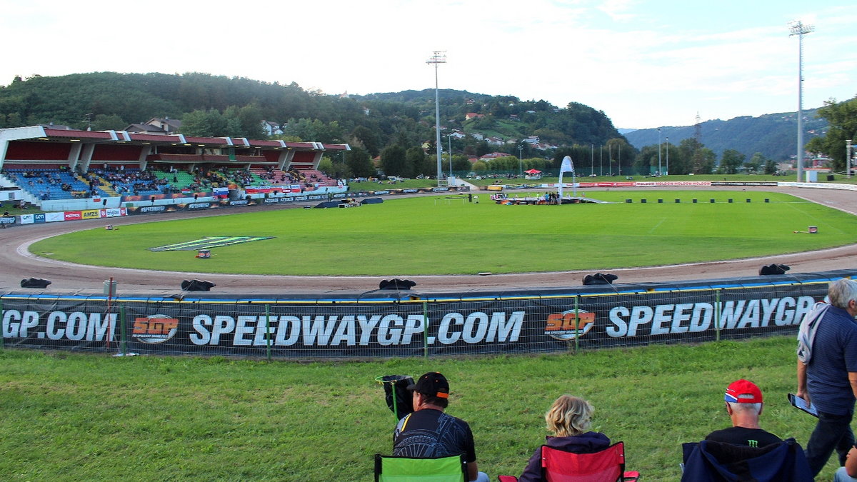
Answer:
<path fill-rule="evenodd" d="M 0 184 L 21 201 L 225 196 L 225 192 L 329 192 L 318 170 L 348 144 L 234 137 L 69 130 L 36 125 L 0 130 Z"/>

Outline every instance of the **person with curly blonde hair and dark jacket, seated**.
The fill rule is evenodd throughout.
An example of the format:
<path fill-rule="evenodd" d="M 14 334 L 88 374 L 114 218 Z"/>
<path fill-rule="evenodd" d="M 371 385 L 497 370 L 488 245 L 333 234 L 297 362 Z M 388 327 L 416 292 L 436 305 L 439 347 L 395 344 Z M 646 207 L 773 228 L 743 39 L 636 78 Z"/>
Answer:
<path fill-rule="evenodd" d="M 592 423 L 592 406 L 588 401 L 572 395 L 562 395 L 550 406 L 544 414 L 548 422 L 548 431 L 554 437 L 548 436 L 544 443 L 553 449 L 560 449 L 575 454 L 592 454 L 607 449 L 610 439 L 597 431 L 590 431 Z M 518 477 L 518 482 L 542 481 L 542 448 L 530 457 L 530 462 L 524 468 L 524 473 Z"/>

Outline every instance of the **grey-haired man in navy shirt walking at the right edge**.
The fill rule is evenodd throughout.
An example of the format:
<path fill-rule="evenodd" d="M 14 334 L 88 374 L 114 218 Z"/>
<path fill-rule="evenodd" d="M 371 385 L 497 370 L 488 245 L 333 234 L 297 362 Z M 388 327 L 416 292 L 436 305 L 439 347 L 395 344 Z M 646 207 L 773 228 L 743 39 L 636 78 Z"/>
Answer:
<path fill-rule="evenodd" d="M 844 465 L 854 446 L 851 419 L 857 400 L 857 281 L 836 280 L 827 291 L 830 305 L 817 304 L 804 321 L 813 316 L 814 337 L 799 346 L 798 390 L 818 411 L 818 424 L 806 443 L 806 460 L 813 476 L 818 475 L 836 449 Z M 801 333 L 803 334 L 803 333 Z"/>

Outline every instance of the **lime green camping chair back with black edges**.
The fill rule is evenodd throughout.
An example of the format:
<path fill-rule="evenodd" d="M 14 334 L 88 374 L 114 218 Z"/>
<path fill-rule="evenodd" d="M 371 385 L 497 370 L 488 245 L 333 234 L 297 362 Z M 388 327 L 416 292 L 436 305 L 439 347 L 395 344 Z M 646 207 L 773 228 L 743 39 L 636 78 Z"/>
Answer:
<path fill-rule="evenodd" d="M 464 455 L 411 459 L 375 454 L 375 482 L 467 482 Z"/>

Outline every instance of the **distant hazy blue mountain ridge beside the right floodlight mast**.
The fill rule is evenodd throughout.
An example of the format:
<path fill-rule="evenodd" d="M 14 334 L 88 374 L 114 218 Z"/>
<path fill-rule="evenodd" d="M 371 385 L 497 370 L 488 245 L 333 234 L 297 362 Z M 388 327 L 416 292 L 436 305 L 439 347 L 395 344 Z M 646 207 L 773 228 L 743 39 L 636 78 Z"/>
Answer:
<path fill-rule="evenodd" d="M 818 109 L 804 111 L 804 142 L 812 137 L 824 136 L 828 124 L 817 118 Z M 768 159 L 786 161 L 797 154 L 797 112 L 765 114 L 759 117 L 734 117 L 728 121 L 709 120 L 699 124 L 700 139 L 706 148 L 717 157 L 726 149 L 735 149 L 749 160 L 753 154 L 761 153 Z M 620 130 L 622 132 L 623 130 Z M 696 134 L 696 126 L 662 127 L 661 142 L 679 144 Z M 657 129 L 627 130 L 625 137 L 635 148 L 657 145 Z"/>

